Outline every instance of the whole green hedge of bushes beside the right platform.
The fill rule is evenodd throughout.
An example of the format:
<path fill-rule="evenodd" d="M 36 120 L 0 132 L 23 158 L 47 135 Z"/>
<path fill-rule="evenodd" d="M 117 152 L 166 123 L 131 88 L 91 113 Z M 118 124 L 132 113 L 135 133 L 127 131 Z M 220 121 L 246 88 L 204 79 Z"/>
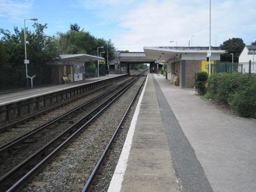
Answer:
<path fill-rule="evenodd" d="M 229 106 L 241 117 L 256 117 L 256 74 L 195 72 L 198 95 Z"/>

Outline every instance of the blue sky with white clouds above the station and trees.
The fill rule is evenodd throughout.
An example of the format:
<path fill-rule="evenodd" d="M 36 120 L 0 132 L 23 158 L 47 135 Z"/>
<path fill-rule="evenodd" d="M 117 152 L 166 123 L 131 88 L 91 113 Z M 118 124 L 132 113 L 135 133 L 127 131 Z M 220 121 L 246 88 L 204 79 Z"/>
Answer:
<path fill-rule="evenodd" d="M 143 52 L 144 46 L 209 46 L 210 31 L 212 46 L 229 38 L 250 45 L 255 13 L 256 0 L 211 0 L 211 9 L 210 0 L 0 0 L 0 28 L 13 33 L 24 19 L 38 18 L 47 24 L 45 34 L 56 36 L 76 23 L 111 39 L 117 50 Z M 33 24 L 26 20 L 28 30 Z"/>

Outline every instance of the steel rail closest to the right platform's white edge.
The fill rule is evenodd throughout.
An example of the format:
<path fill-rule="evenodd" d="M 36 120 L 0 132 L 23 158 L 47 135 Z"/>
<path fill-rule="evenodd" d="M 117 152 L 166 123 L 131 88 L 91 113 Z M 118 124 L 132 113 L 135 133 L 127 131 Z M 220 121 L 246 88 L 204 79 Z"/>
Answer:
<path fill-rule="evenodd" d="M 89 192 L 89 191 L 91 190 L 92 182 L 94 181 L 94 178 L 95 178 L 95 176 L 96 176 L 96 174 L 97 174 L 97 172 L 98 172 L 98 170 L 99 170 L 99 168 L 100 168 L 100 165 L 102 164 L 102 162 L 103 162 L 103 160 L 104 160 L 104 158 L 105 158 L 105 156 L 106 156 L 108 150 L 110 149 L 110 146 L 111 146 L 112 142 L 114 141 L 114 138 L 116 137 L 116 135 L 117 135 L 117 133 L 118 133 L 118 130 L 120 129 L 120 126 L 122 125 L 122 123 L 123 123 L 123 121 L 124 121 L 124 118 L 126 117 L 126 114 L 127 114 L 128 111 L 130 110 L 130 107 L 132 106 L 134 100 L 136 99 L 136 97 L 137 97 L 137 95 L 138 95 L 138 93 L 139 93 L 139 91 L 140 91 L 140 89 L 141 89 L 141 87 L 142 87 L 142 85 L 143 85 L 143 83 L 144 83 L 144 81 L 145 81 L 145 79 L 146 79 L 147 76 L 148 76 L 148 74 L 145 76 L 145 78 L 144 78 L 143 82 L 141 83 L 141 85 L 140 85 L 138 91 L 136 92 L 134 98 L 133 98 L 132 101 L 130 102 L 130 105 L 128 106 L 128 108 L 127 108 L 127 110 L 126 110 L 124 116 L 122 117 L 122 120 L 119 122 L 119 124 L 118 124 L 118 126 L 117 126 L 117 128 L 116 128 L 116 130 L 115 130 L 115 132 L 114 132 L 114 134 L 112 135 L 110 141 L 108 142 L 108 145 L 106 146 L 104 152 L 102 153 L 100 159 L 98 160 L 98 163 L 96 164 L 94 170 L 92 171 L 92 174 L 91 174 L 90 177 L 88 178 L 88 180 L 87 180 L 87 182 L 86 182 L 86 184 L 85 184 L 85 186 L 84 186 L 82 192 Z"/>

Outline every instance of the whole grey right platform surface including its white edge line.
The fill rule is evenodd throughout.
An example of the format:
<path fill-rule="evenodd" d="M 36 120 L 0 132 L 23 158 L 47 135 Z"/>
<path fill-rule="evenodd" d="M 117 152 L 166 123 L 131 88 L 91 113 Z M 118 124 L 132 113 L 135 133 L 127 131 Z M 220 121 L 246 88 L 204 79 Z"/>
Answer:
<path fill-rule="evenodd" d="M 256 121 L 149 74 L 108 192 L 255 192 Z"/>

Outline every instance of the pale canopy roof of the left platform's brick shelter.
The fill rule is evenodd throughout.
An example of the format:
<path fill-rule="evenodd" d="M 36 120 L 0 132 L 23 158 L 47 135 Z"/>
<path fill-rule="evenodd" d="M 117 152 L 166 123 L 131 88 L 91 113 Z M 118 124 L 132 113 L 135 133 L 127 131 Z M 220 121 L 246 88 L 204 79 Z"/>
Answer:
<path fill-rule="evenodd" d="M 69 61 L 96 61 L 96 60 L 104 60 L 103 57 L 98 57 L 94 55 L 88 54 L 67 54 L 67 55 L 59 55 L 62 60 L 69 60 Z"/>

